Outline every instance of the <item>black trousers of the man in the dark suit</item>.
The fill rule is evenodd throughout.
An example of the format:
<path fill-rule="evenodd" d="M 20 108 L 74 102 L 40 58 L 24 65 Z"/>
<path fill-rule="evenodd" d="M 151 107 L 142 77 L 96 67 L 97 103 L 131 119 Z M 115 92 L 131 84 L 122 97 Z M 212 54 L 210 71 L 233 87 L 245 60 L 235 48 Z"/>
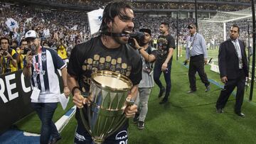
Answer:
<path fill-rule="evenodd" d="M 239 76 L 236 79 L 228 79 L 225 83 L 224 89 L 220 92 L 220 96 L 216 103 L 216 109 L 223 109 L 228 102 L 228 98 L 233 90 L 237 87 L 237 94 L 235 96 L 235 112 L 241 112 L 242 101 L 245 93 L 245 72 L 240 70 Z"/>

